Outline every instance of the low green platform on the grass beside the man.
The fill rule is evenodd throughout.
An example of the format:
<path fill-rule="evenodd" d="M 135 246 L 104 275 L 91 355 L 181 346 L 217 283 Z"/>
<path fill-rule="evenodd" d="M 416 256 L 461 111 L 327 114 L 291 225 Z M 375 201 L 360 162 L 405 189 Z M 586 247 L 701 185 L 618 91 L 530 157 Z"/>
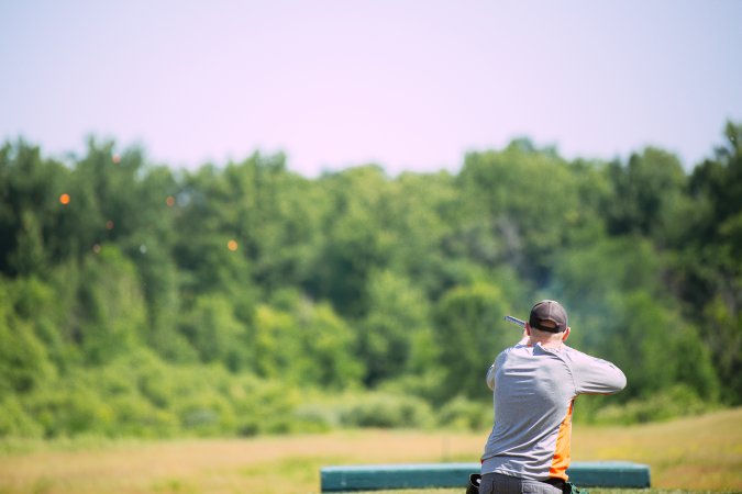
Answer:
<path fill-rule="evenodd" d="M 388 489 L 462 487 L 479 463 L 367 464 L 324 467 L 322 492 L 377 491 Z M 567 470 L 578 486 L 649 487 L 650 468 L 622 461 L 574 462 Z"/>

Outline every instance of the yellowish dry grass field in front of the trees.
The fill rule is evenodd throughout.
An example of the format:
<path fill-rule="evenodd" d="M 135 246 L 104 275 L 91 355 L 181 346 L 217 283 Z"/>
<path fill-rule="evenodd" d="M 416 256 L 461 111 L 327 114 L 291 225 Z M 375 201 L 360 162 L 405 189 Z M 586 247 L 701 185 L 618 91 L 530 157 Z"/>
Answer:
<path fill-rule="evenodd" d="M 354 430 L 178 441 L 0 445 L 0 494 L 317 493 L 323 465 L 477 461 L 487 431 Z M 573 460 L 652 469 L 651 493 L 742 492 L 742 408 L 631 427 L 575 426 Z M 462 494 L 461 490 L 403 491 Z M 634 491 L 591 489 L 591 494 Z"/>

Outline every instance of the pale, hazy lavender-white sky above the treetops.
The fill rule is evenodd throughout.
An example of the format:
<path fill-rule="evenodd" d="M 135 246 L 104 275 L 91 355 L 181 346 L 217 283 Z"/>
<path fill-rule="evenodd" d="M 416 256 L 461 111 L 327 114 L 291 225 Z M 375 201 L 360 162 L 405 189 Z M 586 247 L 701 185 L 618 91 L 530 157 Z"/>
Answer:
<path fill-rule="evenodd" d="M 0 0 L 0 139 L 196 169 L 457 172 L 529 137 L 686 169 L 742 122 L 742 1 Z"/>

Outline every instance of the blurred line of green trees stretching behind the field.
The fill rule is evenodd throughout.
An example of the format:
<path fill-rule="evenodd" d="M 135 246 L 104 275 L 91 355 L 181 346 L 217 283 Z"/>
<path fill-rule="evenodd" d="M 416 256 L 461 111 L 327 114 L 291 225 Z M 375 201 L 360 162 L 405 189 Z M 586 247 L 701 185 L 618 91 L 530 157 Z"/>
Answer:
<path fill-rule="evenodd" d="M 197 170 L 0 148 L 0 436 L 483 427 L 502 321 L 557 299 L 627 390 L 585 419 L 742 402 L 742 125 L 685 170 L 521 138 L 456 173 Z M 582 400 L 582 398 L 580 398 Z"/>

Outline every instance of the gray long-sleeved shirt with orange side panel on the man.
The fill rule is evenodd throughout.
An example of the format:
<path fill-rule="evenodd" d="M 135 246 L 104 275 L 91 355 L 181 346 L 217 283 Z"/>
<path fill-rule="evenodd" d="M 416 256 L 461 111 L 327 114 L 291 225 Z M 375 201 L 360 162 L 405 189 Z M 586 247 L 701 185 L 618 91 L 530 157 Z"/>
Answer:
<path fill-rule="evenodd" d="M 487 372 L 495 426 L 481 473 L 566 481 L 575 397 L 616 393 L 625 383 L 612 363 L 567 346 L 516 345 L 503 350 Z"/>

